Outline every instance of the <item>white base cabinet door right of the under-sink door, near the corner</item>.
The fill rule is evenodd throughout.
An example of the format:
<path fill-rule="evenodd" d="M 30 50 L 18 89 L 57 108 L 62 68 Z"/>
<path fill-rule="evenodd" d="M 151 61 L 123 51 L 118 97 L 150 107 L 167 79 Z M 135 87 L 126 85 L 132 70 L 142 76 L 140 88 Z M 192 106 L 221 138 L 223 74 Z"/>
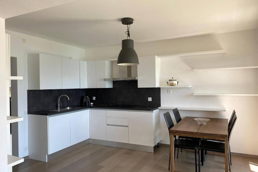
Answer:
<path fill-rule="evenodd" d="M 79 111 L 70 113 L 71 145 L 88 139 L 88 112 Z"/>

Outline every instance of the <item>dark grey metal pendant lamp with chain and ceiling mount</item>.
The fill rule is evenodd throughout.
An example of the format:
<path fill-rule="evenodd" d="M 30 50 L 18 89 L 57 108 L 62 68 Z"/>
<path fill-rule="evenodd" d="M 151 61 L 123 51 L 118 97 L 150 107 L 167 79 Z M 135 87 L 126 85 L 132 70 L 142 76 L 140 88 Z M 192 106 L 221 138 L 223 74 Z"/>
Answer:
<path fill-rule="evenodd" d="M 122 50 L 120 51 L 117 59 L 118 65 L 137 65 L 139 64 L 138 55 L 134 50 L 133 40 L 130 39 L 130 26 L 133 24 L 132 18 L 123 18 L 122 24 L 127 25 L 127 39 L 122 40 Z"/>

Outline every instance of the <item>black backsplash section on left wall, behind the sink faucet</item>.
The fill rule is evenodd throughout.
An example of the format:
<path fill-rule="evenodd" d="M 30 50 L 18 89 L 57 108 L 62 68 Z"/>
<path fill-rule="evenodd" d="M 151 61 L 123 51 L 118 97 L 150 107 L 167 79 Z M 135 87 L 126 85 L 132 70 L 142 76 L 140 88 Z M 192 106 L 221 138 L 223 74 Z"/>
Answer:
<path fill-rule="evenodd" d="M 53 109 L 58 106 L 58 98 L 61 95 L 60 102 L 62 107 L 80 105 L 81 97 L 85 96 L 85 89 L 44 89 L 28 90 L 28 112 L 44 109 Z"/>

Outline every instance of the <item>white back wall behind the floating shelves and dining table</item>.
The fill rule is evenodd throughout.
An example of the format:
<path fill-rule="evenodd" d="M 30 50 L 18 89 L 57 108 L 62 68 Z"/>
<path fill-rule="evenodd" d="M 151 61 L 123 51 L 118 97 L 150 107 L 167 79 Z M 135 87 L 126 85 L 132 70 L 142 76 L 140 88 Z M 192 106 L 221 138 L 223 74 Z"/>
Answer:
<path fill-rule="evenodd" d="M 230 118 L 235 109 L 237 124 L 231 137 L 231 151 L 258 155 L 256 124 L 258 96 L 193 96 L 193 93 L 258 93 L 258 69 L 193 72 L 198 68 L 258 66 L 258 30 L 203 35 L 164 41 L 135 44 L 138 56 L 166 55 L 196 51 L 224 49 L 224 54 L 166 58 L 161 60 L 161 85 L 176 78 L 181 85 L 191 88 L 174 88 L 172 94 L 161 88 L 161 105 L 178 107 L 224 107 L 226 112 L 180 110 L 182 117 L 198 116 Z M 120 46 L 85 49 L 85 60 L 115 59 Z M 169 144 L 169 135 L 163 113 L 162 142 Z M 170 111 L 174 120 L 173 112 Z"/>

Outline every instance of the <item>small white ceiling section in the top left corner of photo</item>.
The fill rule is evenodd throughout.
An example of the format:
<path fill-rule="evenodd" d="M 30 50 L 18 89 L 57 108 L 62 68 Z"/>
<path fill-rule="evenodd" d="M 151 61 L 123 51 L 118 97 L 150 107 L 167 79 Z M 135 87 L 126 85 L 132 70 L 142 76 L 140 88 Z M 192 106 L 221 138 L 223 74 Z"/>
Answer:
<path fill-rule="evenodd" d="M 7 19 L 75 0 L 0 0 L 0 18 Z"/>

